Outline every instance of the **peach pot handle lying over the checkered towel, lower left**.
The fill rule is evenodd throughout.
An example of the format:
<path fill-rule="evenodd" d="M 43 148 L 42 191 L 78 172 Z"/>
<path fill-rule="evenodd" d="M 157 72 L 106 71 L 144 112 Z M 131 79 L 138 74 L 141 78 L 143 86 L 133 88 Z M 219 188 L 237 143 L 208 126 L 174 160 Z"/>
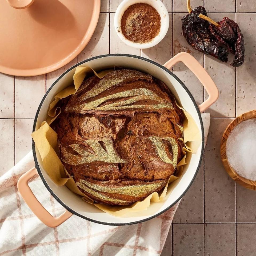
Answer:
<path fill-rule="evenodd" d="M 24 173 L 18 180 L 17 187 L 19 193 L 21 194 L 24 201 L 27 203 L 31 211 L 37 216 L 40 221 L 42 221 L 48 227 L 57 227 L 61 225 L 64 221 L 70 218 L 73 214 L 69 211 L 65 211 L 58 217 L 53 217 L 37 200 L 33 192 L 31 191 L 29 185 L 27 184 L 31 178 L 33 178 L 37 173 L 34 168 L 30 169 Z"/>

